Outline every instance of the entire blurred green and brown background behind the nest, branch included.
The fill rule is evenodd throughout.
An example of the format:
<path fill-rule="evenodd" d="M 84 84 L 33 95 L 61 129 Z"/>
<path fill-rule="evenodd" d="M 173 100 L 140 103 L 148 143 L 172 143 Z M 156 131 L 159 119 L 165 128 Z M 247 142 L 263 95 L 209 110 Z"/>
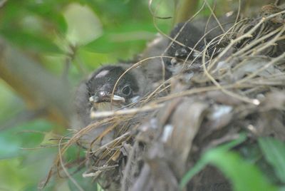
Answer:
<path fill-rule="evenodd" d="M 104 63 L 131 61 L 158 32 L 169 33 L 202 3 L 0 0 L 0 190 L 37 190 L 56 158 L 58 140 L 72 133 L 68 100 L 88 73 Z M 220 1 L 217 13 L 237 4 Z M 74 146 L 64 160 L 84 154 Z M 94 190 L 80 172 L 74 177 Z M 76 188 L 58 179 L 45 190 Z"/>

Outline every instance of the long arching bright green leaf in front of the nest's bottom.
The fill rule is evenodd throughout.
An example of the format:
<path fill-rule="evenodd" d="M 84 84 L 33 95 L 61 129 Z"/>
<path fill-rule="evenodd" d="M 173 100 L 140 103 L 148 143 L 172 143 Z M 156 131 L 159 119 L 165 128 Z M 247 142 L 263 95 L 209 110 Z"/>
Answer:
<path fill-rule="evenodd" d="M 204 166 L 210 164 L 221 170 L 231 180 L 234 190 L 276 190 L 266 177 L 252 163 L 244 161 L 237 153 L 228 150 L 239 145 L 246 136 L 241 135 L 239 139 L 230 143 L 208 150 L 197 164 L 190 169 L 180 182 L 180 189 L 197 174 Z"/>

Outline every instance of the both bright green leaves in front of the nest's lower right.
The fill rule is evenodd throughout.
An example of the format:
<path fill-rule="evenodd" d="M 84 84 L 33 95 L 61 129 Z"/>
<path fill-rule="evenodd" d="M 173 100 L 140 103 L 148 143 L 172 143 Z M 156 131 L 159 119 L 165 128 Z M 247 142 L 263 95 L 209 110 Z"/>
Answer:
<path fill-rule="evenodd" d="M 279 177 L 279 183 L 271 182 L 271 177 L 268 177 L 266 172 L 262 172 L 257 164 L 242 158 L 239 153 L 229 151 L 234 146 L 244 142 L 245 136 L 232 143 L 219 146 L 208 150 L 197 164 L 192 167 L 182 178 L 180 188 L 187 185 L 197 172 L 201 171 L 206 165 L 217 167 L 232 183 L 232 187 L 237 191 L 245 190 L 282 190 L 285 184 L 285 144 L 274 138 L 259 138 L 258 144 L 261 150 L 261 155 L 264 156 L 266 162 L 273 167 L 276 176 Z M 265 162 L 265 161 L 263 161 Z M 281 184 L 280 184 L 281 182 Z M 275 184 L 275 185 L 274 185 Z"/>

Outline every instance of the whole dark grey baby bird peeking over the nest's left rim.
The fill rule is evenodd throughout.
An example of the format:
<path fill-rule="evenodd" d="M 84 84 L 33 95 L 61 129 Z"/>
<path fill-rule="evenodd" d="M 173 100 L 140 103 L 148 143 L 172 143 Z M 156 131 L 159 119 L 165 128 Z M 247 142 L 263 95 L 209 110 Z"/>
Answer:
<path fill-rule="evenodd" d="M 141 68 L 133 68 L 125 73 L 130 66 L 125 63 L 103 66 L 81 83 L 76 92 L 73 128 L 79 130 L 93 123 L 91 112 L 116 110 L 131 103 L 138 103 L 149 86 Z M 95 127 L 84 135 L 83 139 L 92 142 L 106 128 L 108 124 Z M 110 140 L 113 140 L 113 133 L 105 135 L 100 145 Z"/>

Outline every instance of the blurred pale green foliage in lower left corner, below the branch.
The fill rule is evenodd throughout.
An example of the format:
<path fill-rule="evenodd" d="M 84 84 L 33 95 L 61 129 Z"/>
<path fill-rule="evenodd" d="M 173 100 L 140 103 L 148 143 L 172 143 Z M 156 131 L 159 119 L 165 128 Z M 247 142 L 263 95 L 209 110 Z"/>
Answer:
<path fill-rule="evenodd" d="M 36 189 L 37 182 L 46 176 L 56 148 L 38 148 L 45 133 L 55 125 L 46 120 L 34 120 L 0 133 L 0 185 L 6 190 Z M 37 132 L 37 133 L 35 133 Z M 0 188 L 1 190 L 1 188 Z"/>

